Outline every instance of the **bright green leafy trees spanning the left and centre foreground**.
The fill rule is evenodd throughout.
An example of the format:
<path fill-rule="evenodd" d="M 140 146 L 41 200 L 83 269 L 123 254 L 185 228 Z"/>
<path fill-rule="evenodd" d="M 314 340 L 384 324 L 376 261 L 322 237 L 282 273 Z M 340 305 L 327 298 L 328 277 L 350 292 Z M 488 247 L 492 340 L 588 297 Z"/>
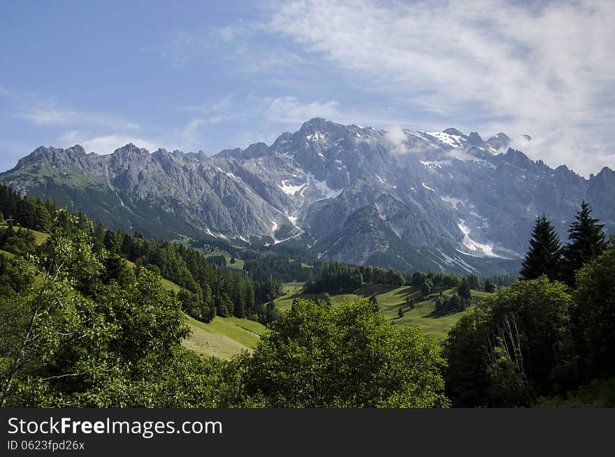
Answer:
<path fill-rule="evenodd" d="M 299 302 L 252 355 L 197 356 L 180 345 L 178 298 L 148 269 L 96 251 L 92 230 L 61 212 L 29 262 L 3 260 L 24 281 L 0 295 L 1 406 L 448 405 L 437 344 L 393 328 L 368 300 Z"/>

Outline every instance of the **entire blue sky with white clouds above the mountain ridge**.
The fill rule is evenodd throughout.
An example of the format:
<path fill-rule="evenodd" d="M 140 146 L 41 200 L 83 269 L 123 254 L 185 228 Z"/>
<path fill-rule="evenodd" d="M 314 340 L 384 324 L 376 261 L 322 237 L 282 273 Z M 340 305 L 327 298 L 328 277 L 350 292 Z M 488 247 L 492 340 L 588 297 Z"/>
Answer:
<path fill-rule="evenodd" d="M 271 143 L 320 116 L 615 167 L 615 2 L 3 1 L 0 170 L 34 148 Z"/>

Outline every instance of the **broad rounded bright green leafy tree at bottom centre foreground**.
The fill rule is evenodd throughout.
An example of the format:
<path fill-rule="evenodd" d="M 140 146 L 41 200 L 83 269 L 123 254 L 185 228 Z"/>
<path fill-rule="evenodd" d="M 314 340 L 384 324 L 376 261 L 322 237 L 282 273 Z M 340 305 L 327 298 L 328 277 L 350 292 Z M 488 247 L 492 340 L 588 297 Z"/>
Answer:
<path fill-rule="evenodd" d="M 393 328 L 368 300 L 302 300 L 246 360 L 244 389 L 268 407 L 442 407 L 442 367 L 433 340 Z"/>

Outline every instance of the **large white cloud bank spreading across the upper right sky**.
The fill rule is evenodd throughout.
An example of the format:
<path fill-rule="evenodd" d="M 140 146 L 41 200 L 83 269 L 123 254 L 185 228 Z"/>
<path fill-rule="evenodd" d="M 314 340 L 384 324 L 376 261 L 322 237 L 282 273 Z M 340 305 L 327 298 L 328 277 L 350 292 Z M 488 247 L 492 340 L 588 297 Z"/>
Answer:
<path fill-rule="evenodd" d="M 291 1 L 268 26 L 359 90 L 458 125 L 530 134 L 531 155 L 584 174 L 605 157 L 614 164 L 602 146 L 615 142 L 614 2 L 382 5 Z"/>

